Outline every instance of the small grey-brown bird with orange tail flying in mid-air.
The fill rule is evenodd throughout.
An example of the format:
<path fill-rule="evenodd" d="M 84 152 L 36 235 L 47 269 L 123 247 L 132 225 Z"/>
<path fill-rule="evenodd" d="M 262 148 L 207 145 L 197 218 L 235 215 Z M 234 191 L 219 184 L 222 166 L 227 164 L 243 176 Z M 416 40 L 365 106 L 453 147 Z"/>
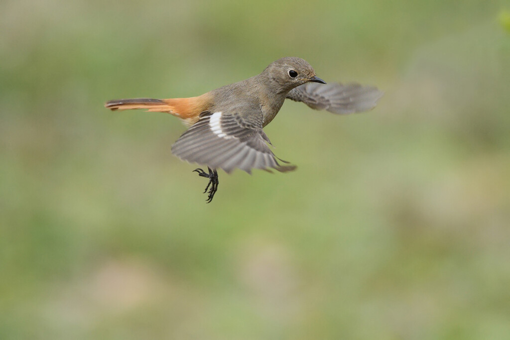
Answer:
<path fill-rule="evenodd" d="M 249 174 L 252 169 L 296 169 L 275 156 L 263 130 L 285 99 L 303 102 L 315 110 L 349 114 L 373 109 L 382 94 L 374 86 L 326 84 L 307 61 L 284 57 L 258 75 L 196 97 L 114 99 L 105 107 L 112 111 L 146 109 L 180 118 L 188 129 L 172 145 L 172 153 L 181 160 L 207 166 L 207 172 L 202 168 L 193 171 L 209 178 L 204 193 L 210 203 L 218 190 L 217 169 L 231 173 L 238 168 Z"/>

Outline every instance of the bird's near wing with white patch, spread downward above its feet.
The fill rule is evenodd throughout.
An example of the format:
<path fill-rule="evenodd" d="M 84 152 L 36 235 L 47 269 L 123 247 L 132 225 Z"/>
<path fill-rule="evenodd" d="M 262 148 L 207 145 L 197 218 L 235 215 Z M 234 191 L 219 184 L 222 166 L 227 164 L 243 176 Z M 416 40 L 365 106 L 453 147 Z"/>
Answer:
<path fill-rule="evenodd" d="M 251 169 L 294 170 L 293 165 L 280 165 L 266 144 L 269 139 L 262 130 L 260 109 L 250 108 L 249 115 L 242 115 L 243 109 L 247 112 L 243 107 L 229 112 L 202 112 L 199 120 L 172 145 L 173 154 L 227 173 L 235 168 L 248 173 Z"/>

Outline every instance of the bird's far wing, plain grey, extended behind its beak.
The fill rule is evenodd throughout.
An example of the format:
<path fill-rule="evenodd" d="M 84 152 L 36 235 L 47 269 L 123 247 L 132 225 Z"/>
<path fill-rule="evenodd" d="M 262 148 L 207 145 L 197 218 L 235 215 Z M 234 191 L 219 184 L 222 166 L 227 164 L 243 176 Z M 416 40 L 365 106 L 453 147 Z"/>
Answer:
<path fill-rule="evenodd" d="M 382 94 L 376 87 L 360 84 L 306 83 L 292 89 L 287 98 L 302 101 L 315 110 L 348 114 L 373 109 Z"/>

